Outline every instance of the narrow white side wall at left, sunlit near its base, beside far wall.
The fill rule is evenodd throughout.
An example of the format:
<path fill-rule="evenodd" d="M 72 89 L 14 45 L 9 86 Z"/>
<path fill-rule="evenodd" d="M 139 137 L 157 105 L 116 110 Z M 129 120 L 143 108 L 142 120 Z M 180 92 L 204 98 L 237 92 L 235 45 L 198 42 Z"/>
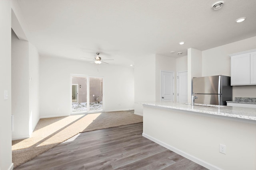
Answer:
<path fill-rule="evenodd" d="M 39 116 L 39 55 L 36 47 L 31 43 L 28 44 L 28 76 L 29 79 L 29 135 L 34 131 L 38 123 Z"/>

